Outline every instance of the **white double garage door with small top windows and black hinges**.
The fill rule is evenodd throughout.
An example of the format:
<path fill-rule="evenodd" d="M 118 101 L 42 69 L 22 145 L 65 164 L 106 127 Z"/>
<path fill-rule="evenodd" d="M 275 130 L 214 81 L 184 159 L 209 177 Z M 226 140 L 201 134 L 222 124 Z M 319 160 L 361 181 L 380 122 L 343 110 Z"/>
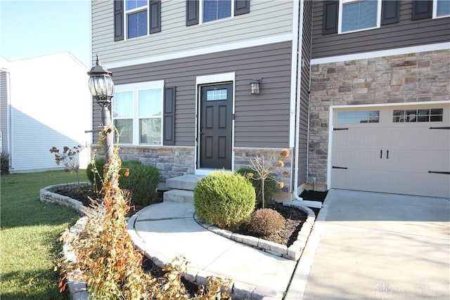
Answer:
<path fill-rule="evenodd" d="M 450 197 L 449 107 L 335 108 L 331 188 Z"/>

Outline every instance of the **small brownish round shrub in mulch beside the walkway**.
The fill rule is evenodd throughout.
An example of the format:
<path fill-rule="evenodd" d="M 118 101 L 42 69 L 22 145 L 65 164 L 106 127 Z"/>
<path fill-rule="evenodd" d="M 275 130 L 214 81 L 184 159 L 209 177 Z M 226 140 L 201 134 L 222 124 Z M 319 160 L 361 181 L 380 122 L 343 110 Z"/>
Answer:
<path fill-rule="evenodd" d="M 248 230 L 258 236 L 279 233 L 284 226 L 283 216 L 274 209 L 257 209 L 248 221 Z"/>

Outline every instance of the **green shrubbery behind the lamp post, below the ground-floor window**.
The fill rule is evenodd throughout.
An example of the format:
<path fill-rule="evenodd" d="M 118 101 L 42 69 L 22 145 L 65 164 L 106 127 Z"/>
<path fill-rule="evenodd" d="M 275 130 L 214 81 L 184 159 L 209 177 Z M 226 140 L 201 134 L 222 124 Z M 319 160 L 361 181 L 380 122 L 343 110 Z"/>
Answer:
<path fill-rule="evenodd" d="M 89 165 L 86 175 L 94 188 L 101 190 L 101 178 L 103 179 L 103 168 L 105 158 L 101 157 L 95 161 L 98 173 Z M 127 172 L 128 170 L 128 172 Z M 124 176 L 128 173 L 128 176 Z M 137 160 L 122 162 L 119 185 L 122 190 L 128 190 L 131 194 L 131 205 L 146 206 L 153 204 L 158 197 L 158 184 L 160 183 L 160 171 L 153 166 L 142 164 Z"/>

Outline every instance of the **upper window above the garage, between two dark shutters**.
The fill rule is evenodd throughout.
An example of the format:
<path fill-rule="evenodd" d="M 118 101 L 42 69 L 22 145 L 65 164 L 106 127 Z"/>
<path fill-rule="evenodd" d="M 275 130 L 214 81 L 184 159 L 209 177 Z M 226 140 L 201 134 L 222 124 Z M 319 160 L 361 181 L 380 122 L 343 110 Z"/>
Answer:
<path fill-rule="evenodd" d="M 380 27 L 381 0 L 341 0 L 339 33 Z"/>

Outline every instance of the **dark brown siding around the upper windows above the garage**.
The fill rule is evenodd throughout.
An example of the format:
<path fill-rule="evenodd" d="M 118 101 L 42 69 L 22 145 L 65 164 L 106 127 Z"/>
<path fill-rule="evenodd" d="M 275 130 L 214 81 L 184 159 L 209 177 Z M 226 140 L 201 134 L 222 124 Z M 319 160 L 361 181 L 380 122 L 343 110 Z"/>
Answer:
<path fill-rule="evenodd" d="M 411 20 L 412 2 L 400 2 L 400 22 L 375 30 L 322 34 L 323 1 L 313 1 L 312 58 L 442 43 L 450 40 L 450 19 Z"/>

